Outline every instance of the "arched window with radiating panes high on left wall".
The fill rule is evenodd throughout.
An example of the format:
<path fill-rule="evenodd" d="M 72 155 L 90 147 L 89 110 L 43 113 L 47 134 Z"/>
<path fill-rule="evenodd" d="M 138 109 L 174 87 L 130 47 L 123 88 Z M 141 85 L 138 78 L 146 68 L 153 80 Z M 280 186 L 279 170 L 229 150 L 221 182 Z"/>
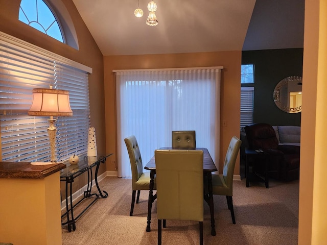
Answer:
<path fill-rule="evenodd" d="M 65 40 L 53 11 L 42 0 L 21 0 L 18 19 L 60 42 Z"/>

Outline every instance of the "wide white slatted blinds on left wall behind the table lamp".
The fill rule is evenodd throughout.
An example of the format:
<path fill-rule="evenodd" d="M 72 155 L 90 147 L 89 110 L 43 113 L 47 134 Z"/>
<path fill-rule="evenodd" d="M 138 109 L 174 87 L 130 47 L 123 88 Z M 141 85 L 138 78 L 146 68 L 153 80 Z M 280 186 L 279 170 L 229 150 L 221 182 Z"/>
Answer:
<path fill-rule="evenodd" d="M 50 161 L 48 117 L 29 116 L 33 88 L 69 91 L 71 117 L 57 117 L 57 161 L 87 151 L 88 74 L 58 56 L 0 35 L 0 126 L 3 161 Z M 68 62 L 69 63 L 69 62 Z M 81 65 L 82 66 L 82 65 Z"/>

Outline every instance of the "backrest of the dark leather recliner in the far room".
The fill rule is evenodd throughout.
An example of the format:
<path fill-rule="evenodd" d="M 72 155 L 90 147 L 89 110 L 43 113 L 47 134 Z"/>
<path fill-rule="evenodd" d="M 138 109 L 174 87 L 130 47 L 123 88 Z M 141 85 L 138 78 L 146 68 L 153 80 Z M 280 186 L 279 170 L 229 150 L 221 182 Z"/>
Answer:
<path fill-rule="evenodd" d="M 251 149 L 277 149 L 278 139 L 271 125 L 261 122 L 246 126 L 244 130 Z"/>

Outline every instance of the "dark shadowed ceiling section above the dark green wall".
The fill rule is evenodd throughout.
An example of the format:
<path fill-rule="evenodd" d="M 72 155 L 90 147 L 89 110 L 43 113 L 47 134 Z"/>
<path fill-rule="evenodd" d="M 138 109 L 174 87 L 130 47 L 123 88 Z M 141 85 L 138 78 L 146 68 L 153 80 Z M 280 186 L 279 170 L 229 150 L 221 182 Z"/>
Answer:
<path fill-rule="evenodd" d="M 303 47 L 305 0 L 257 0 L 243 50 Z"/>

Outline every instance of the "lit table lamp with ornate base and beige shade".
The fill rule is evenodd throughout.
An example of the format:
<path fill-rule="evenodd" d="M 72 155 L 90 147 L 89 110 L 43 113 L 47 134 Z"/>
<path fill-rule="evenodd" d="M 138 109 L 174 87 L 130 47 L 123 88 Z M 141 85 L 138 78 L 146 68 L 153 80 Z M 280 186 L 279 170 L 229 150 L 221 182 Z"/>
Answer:
<path fill-rule="evenodd" d="M 66 90 L 46 88 L 33 89 L 33 102 L 28 111 L 31 116 L 50 116 L 48 121 L 48 135 L 50 138 L 51 162 L 56 162 L 56 132 L 54 116 L 72 116 L 73 111 L 69 105 L 69 92 Z"/>

